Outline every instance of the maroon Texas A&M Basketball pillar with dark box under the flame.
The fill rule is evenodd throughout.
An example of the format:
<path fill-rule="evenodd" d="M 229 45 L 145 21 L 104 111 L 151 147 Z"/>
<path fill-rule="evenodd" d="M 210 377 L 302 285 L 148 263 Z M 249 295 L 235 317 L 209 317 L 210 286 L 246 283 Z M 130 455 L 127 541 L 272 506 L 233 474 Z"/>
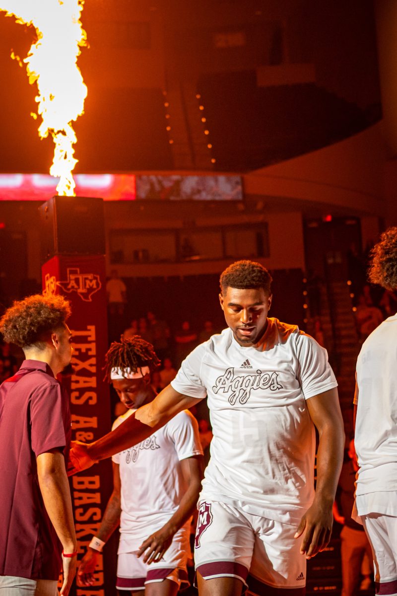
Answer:
<path fill-rule="evenodd" d="M 91 442 L 111 428 L 109 387 L 102 371 L 108 349 L 103 201 L 56 196 L 39 210 L 42 257 L 46 260 L 43 290 L 62 294 L 71 303 L 68 325 L 73 333 L 73 372 L 63 382 L 70 389 L 72 439 Z M 110 460 L 71 478 L 79 560 L 98 532 L 111 486 Z M 92 586 L 77 585 L 75 594 L 111 594 L 115 558 L 110 544 L 105 549 L 105 569 L 96 570 Z"/>

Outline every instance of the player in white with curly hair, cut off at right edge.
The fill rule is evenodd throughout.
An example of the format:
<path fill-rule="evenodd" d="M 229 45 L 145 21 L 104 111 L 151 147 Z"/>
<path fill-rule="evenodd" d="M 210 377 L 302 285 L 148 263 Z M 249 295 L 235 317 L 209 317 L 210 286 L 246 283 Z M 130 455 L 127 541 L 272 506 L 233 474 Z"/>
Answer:
<path fill-rule="evenodd" d="M 397 290 L 397 228 L 387 229 L 374 246 L 369 280 Z M 354 396 L 360 468 L 353 517 L 361 520 L 373 550 L 376 594 L 389 596 L 397 595 L 396 368 L 397 315 L 393 315 L 362 344 Z"/>

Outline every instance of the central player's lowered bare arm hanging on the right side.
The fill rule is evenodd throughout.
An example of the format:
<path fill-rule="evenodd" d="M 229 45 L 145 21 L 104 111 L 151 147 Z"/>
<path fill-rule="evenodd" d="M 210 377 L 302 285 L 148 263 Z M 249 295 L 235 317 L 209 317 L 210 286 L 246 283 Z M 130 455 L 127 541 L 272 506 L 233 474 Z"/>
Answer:
<path fill-rule="evenodd" d="M 301 553 L 314 557 L 331 538 L 332 505 L 343 461 L 345 433 L 337 389 L 307 400 L 308 411 L 318 430 L 317 485 L 313 504 L 302 517 L 295 538 L 302 535 Z"/>

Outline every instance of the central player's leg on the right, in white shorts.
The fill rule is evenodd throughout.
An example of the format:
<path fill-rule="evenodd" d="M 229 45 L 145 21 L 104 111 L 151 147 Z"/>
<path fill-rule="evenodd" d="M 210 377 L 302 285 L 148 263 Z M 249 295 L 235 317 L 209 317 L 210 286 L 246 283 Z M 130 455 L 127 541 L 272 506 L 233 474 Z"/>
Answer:
<path fill-rule="evenodd" d="M 261 596 L 303 596 L 306 558 L 301 542 L 293 538 L 295 524 L 250 516 L 256 532 L 254 554 L 247 579 L 249 593 Z"/>

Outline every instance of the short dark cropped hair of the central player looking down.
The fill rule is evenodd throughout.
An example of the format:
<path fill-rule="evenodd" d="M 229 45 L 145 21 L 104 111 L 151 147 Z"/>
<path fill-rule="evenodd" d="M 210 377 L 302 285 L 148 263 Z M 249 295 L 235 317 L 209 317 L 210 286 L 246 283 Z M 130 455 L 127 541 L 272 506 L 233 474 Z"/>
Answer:
<path fill-rule="evenodd" d="M 221 293 L 227 288 L 248 290 L 251 288 L 263 288 L 267 295 L 270 295 L 271 275 L 260 263 L 249 260 L 240 260 L 229 265 L 221 274 L 219 283 Z"/>

